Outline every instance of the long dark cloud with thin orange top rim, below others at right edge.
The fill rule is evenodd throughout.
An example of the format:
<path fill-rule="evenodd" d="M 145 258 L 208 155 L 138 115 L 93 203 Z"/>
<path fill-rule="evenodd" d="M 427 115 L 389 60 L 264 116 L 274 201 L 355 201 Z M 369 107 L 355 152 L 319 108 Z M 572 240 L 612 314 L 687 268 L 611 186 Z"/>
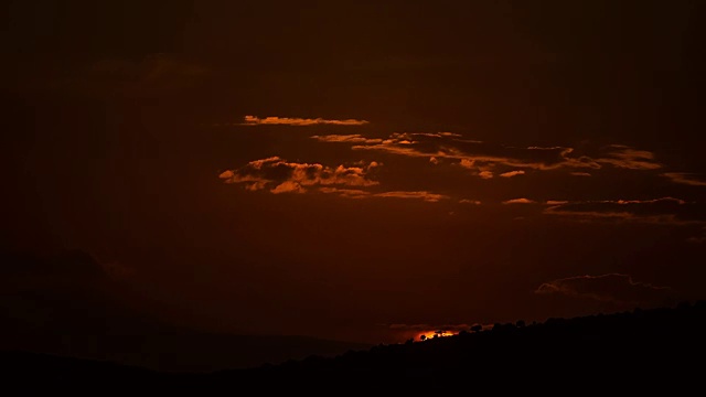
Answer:
<path fill-rule="evenodd" d="M 547 215 L 564 216 L 581 222 L 632 222 L 652 224 L 697 225 L 706 222 L 699 203 L 680 198 L 603 200 L 584 202 L 547 202 Z"/>

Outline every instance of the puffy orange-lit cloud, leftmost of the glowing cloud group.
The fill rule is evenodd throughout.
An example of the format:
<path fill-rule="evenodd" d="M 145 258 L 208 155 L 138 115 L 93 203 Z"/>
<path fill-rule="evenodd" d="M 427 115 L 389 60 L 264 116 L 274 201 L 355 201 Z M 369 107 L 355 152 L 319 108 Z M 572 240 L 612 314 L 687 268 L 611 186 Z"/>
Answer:
<path fill-rule="evenodd" d="M 242 183 L 250 191 L 269 189 L 271 193 L 303 193 L 313 186 L 373 186 L 368 173 L 379 167 L 372 161 L 366 167 L 325 167 L 318 163 L 289 162 L 279 157 L 254 160 L 236 170 L 218 175 L 225 183 Z"/>

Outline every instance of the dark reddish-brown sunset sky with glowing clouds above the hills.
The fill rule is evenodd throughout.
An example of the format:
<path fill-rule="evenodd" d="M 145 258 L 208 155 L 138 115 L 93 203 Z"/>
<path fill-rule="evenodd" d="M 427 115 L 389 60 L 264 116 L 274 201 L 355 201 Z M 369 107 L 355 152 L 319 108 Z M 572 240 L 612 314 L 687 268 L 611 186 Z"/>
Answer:
<path fill-rule="evenodd" d="M 704 7 L 9 1 L 2 251 L 371 343 L 704 299 Z"/>

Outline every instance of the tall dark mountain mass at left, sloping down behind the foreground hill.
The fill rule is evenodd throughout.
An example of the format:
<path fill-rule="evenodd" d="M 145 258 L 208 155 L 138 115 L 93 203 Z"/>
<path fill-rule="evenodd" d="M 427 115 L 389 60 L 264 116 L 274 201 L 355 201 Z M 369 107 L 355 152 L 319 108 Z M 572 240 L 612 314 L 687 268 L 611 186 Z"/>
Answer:
<path fill-rule="evenodd" d="M 174 324 L 145 309 L 143 296 L 108 277 L 78 250 L 3 254 L 0 259 L 0 350 L 4 351 L 162 372 L 212 372 L 370 347 L 300 335 L 208 333 Z"/>

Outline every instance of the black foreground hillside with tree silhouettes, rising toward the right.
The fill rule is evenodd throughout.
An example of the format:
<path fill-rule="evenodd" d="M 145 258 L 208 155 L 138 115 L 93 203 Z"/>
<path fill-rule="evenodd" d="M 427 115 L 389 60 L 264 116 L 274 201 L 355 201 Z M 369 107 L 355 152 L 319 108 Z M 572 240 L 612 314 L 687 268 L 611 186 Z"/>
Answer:
<path fill-rule="evenodd" d="M 87 389 L 96 395 L 147 388 L 323 395 L 389 390 L 427 395 L 513 391 L 576 395 L 593 390 L 700 394 L 706 382 L 706 301 L 379 345 L 335 357 L 212 373 L 164 373 L 24 352 L 0 355 L 6 385 Z"/>

